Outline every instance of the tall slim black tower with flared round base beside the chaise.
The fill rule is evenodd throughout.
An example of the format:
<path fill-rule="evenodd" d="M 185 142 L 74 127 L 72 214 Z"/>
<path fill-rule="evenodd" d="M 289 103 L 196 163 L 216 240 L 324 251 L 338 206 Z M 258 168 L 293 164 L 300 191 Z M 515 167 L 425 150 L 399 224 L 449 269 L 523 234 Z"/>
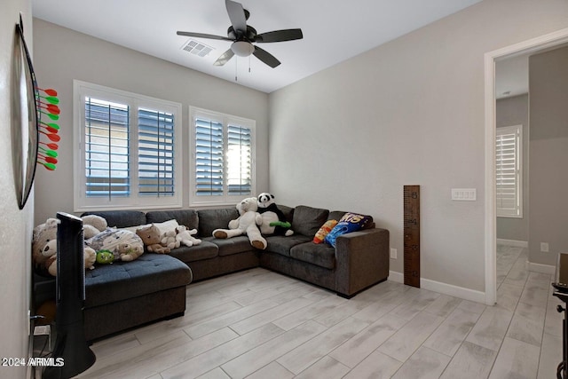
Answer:
<path fill-rule="evenodd" d="M 63 379 L 81 374 L 95 363 L 83 329 L 85 267 L 83 220 L 58 212 L 56 316 L 57 339 L 51 357 L 61 366 L 45 367 L 43 379 Z"/>

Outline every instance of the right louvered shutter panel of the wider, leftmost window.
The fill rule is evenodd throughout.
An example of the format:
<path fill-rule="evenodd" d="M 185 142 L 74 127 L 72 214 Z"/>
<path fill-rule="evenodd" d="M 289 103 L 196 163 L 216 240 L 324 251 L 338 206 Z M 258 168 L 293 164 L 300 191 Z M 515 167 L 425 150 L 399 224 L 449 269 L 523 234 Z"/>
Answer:
<path fill-rule="evenodd" d="M 174 194 L 174 115 L 138 109 L 138 193 Z"/>

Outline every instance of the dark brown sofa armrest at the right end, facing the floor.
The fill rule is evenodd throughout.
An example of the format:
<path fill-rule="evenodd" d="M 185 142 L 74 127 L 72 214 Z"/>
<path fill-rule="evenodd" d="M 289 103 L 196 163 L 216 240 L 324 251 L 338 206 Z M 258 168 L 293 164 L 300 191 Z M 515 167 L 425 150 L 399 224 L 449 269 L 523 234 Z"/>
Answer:
<path fill-rule="evenodd" d="M 389 231 L 381 228 L 346 233 L 336 240 L 335 288 L 351 297 L 389 277 Z"/>

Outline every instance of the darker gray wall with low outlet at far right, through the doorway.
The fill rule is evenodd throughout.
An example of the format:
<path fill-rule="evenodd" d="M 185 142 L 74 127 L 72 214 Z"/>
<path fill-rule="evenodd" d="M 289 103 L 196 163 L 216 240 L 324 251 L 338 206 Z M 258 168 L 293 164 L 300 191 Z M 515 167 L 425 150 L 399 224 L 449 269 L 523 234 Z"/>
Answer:
<path fill-rule="evenodd" d="M 529 58 L 529 260 L 556 265 L 568 251 L 568 47 Z M 549 252 L 540 252 L 548 242 Z"/>

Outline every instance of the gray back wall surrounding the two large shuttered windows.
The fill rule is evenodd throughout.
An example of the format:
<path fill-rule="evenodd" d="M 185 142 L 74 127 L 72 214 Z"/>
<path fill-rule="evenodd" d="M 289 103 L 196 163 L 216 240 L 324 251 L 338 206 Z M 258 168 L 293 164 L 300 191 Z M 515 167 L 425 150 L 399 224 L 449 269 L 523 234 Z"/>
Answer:
<path fill-rule="evenodd" d="M 73 212 L 73 80 L 140 93 L 183 105 L 183 141 L 189 141 L 189 106 L 256 120 L 256 189 L 268 190 L 268 95 L 210 75 L 34 19 L 40 86 L 59 91 L 59 163 L 38 169 L 36 224 L 59 210 Z M 57 41 L 55 45 L 54 42 Z M 184 204 L 189 201 L 189 152 L 184 143 Z"/>

